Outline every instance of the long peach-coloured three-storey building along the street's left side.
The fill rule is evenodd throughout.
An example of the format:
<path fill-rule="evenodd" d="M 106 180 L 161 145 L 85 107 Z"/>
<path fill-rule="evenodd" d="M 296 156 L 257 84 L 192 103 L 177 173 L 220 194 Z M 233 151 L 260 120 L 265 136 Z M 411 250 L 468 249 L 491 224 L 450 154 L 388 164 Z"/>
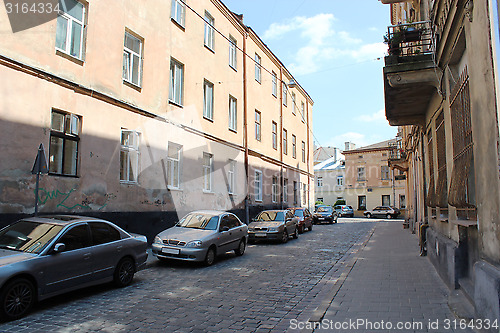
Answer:
<path fill-rule="evenodd" d="M 60 0 L 0 31 L 3 224 L 34 213 L 40 144 L 41 214 L 151 237 L 195 209 L 314 203 L 313 101 L 221 1 Z"/>

